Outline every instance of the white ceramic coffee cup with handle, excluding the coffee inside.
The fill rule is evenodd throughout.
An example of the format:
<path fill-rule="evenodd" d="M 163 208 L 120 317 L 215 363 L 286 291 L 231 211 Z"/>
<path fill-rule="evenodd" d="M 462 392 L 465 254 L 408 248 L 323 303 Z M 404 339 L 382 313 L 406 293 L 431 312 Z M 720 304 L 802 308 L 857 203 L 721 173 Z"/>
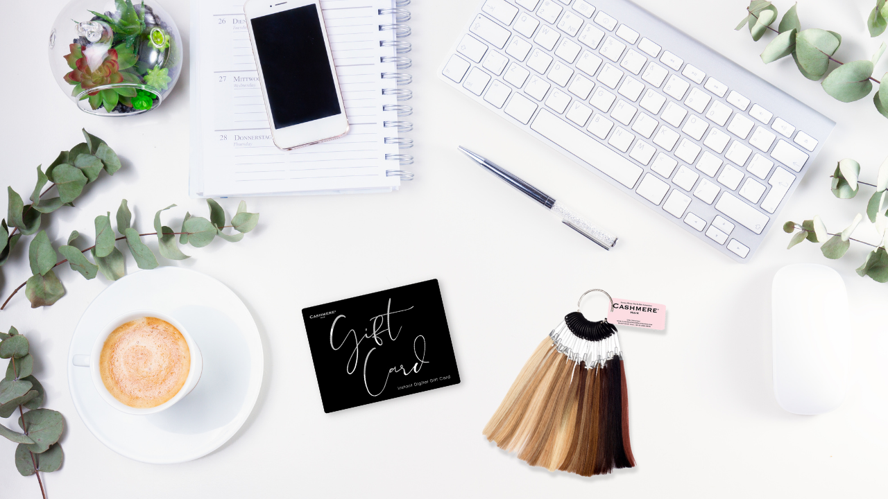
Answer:
<path fill-rule="evenodd" d="M 173 398 L 153 408 L 131 408 L 120 400 L 115 399 L 114 395 L 112 395 L 111 392 L 108 392 L 105 387 L 105 383 L 102 381 L 101 372 L 99 371 L 99 358 L 101 357 L 102 348 L 105 346 L 105 340 L 107 340 L 107 337 L 123 324 L 129 321 L 135 321 L 142 317 L 156 317 L 162 321 L 169 322 L 174 328 L 178 329 L 178 332 L 182 333 L 182 337 L 185 338 L 186 344 L 188 345 L 188 351 L 191 353 L 191 367 L 188 370 L 185 384 L 182 385 L 182 388 L 179 389 Z M 182 327 L 182 324 L 179 323 L 179 321 L 176 321 L 165 313 L 159 313 L 153 310 L 134 310 L 132 312 L 124 313 L 115 318 L 114 321 L 108 322 L 105 328 L 101 330 L 99 337 L 96 338 L 95 344 L 92 345 L 92 352 L 89 355 L 75 355 L 72 362 L 75 366 L 90 368 L 92 384 L 96 386 L 99 395 L 101 395 L 102 399 L 104 399 L 108 405 L 119 411 L 136 416 L 155 414 L 172 407 L 173 404 L 182 400 L 188 393 L 194 390 L 194 386 L 196 386 L 197 382 L 201 379 L 201 373 L 203 371 L 201 350 L 197 347 L 197 344 L 194 343 L 194 339 L 191 338 L 188 331 Z"/>

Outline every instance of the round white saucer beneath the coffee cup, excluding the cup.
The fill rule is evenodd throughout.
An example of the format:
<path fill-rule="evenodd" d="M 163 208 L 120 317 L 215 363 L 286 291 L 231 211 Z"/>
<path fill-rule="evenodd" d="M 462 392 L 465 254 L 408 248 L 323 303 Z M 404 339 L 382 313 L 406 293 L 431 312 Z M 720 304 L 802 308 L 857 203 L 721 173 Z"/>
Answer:
<path fill-rule="evenodd" d="M 121 313 L 166 313 L 194 337 L 203 355 L 200 382 L 161 413 L 131 416 L 112 408 L 74 356 L 89 354 L 103 326 Z M 67 379 L 83 424 L 117 454 L 142 463 L 183 463 L 219 448 L 250 416 L 262 385 L 256 322 L 231 289 L 202 273 L 159 267 L 131 273 L 92 301 L 71 338 Z"/>

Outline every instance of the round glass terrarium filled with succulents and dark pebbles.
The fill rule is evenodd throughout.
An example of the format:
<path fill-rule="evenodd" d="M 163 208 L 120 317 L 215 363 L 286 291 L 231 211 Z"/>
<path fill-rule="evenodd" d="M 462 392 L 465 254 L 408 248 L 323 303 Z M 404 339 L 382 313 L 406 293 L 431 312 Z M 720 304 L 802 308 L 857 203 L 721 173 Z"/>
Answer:
<path fill-rule="evenodd" d="M 154 0 L 72 0 L 50 33 L 59 87 L 92 115 L 139 115 L 161 105 L 182 68 L 182 40 Z"/>

